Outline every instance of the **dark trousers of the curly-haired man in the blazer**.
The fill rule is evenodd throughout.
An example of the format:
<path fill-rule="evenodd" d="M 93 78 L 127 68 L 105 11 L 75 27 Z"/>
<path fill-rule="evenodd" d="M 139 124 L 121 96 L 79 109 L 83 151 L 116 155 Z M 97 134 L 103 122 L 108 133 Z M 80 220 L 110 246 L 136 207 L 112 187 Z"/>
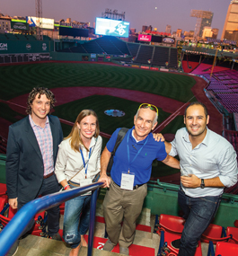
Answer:
<path fill-rule="evenodd" d="M 56 193 L 56 192 L 58 192 L 58 190 L 59 190 L 59 185 L 57 182 L 57 177 L 54 174 L 54 175 L 48 177 L 47 179 L 44 179 L 36 198 L 38 198 L 40 195 L 46 196 L 48 194 Z M 20 210 L 26 203 L 28 203 L 28 202 L 23 201 L 23 199 L 19 200 L 17 209 Z M 47 212 L 48 212 L 48 235 L 52 236 L 52 235 L 56 234 L 59 229 L 59 216 L 60 216 L 59 206 L 49 208 L 47 210 Z M 31 230 L 31 228 L 33 227 L 34 223 L 35 223 L 35 221 L 34 221 L 34 219 L 32 219 L 31 223 L 29 225 L 27 225 L 27 227 L 25 228 L 22 235 L 29 232 Z"/>

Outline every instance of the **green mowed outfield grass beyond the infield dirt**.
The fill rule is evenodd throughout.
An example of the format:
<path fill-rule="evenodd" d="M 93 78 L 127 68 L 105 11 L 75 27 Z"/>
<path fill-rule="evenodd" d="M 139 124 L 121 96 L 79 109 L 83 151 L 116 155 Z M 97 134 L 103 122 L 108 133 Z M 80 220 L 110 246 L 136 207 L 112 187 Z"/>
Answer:
<path fill-rule="evenodd" d="M 29 93 L 35 86 L 100 86 L 154 93 L 181 102 L 193 97 L 188 75 L 87 63 L 42 63 L 0 66 L 2 100 Z"/>

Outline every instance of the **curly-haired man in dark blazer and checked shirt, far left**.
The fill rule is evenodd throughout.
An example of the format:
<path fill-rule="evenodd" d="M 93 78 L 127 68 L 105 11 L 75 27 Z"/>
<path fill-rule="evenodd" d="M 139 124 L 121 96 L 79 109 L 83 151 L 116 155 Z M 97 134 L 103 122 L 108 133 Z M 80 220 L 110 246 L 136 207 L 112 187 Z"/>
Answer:
<path fill-rule="evenodd" d="M 38 196 L 59 190 L 54 169 L 63 133 L 59 119 L 48 115 L 55 102 L 55 95 L 47 88 L 33 88 L 28 96 L 28 116 L 9 127 L 5 171 L 9 205 L 13 209 L 19 210 Z M 34 220 L 25 233 L 33 225 Z M 58 229 L 57 206 L 48 209 L 47 236 L 61 240 Z M 17 250 L 18 243 L 13 244 L 12 251 Z"/>

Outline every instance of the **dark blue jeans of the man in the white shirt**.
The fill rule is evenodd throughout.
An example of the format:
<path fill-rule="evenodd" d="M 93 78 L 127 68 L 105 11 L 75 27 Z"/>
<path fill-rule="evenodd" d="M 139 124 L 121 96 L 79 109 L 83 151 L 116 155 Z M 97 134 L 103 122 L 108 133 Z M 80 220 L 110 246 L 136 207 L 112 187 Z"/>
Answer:
<path fill-rule="evenodd" d="M 178 256 L 193 256 L 201 234 L 207 229 L 220 205 L 222 196 L 190 198 L 179 190 L 179 205 L 186 219 Z"/>

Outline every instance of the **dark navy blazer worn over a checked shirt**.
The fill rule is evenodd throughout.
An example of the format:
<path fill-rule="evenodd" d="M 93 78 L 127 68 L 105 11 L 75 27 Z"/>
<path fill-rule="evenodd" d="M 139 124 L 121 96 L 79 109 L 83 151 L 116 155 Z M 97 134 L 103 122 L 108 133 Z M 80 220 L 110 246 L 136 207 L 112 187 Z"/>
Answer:
<path fill-rule="evenodd" d="M 48 120 L 55 164 L 63 133 L 57 117 L 48 115 Z M 9 127 L 5 172 L 9 199 L 28 202 L 36 198 L 43 182 L 44 164 L 29 116 Z"/>

